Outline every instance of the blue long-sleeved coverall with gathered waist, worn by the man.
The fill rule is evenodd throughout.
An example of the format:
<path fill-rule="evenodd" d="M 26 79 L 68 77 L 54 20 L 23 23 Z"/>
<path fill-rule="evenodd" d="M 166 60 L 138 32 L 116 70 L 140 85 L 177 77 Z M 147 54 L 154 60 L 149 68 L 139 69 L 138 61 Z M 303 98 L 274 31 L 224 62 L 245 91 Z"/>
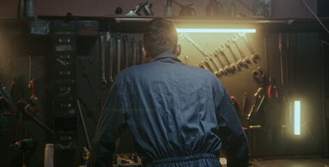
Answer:
<path fill-rule="evenodd" d="M 221 146 L 228 166 L 248 166 L 247 138 L 222 82 L 169 52 L 117 75 L 89 166 L 112 166 L 126 127 L 144 166 L 221 166 Z"/>

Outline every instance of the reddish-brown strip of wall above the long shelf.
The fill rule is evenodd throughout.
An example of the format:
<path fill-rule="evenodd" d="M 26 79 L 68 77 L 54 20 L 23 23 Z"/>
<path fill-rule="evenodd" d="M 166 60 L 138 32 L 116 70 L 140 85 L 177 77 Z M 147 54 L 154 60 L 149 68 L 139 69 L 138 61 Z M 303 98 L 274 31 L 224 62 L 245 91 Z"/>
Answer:
<path fill-rule="evenodd" d="M 309 6 L 316 13 L 316 1 L 305 0 Z M 66 15 L 66 13 L 72 13 L 72 15 L 79 16 L 100 16 L 114 14 L 117 7 L 123 9 L 123 14 L 129 13 L 130 10 L 135 8 L 139 3 L 144 1 L 125 0 L 125 1 L 89 1 L 89 0 L 75 0 L 75 1 L 52 1 L 52 0 L 36 0 L 36 15 Z M 194 5 L 192 8 L 196 10 L 198 17 L 206 16 L 206 5 L 208 1 L 201 0 L 181 0 L 178 1 L 181 4 Z M 221 3 L 224 0 L 220 1 Z M 149 0 L 149 3 L 153 3 L 153 13 L 155 16 L 163 16 L 164 8 L 167 6 L 167 0 L 155 1 Z M 227 0 L 230 5 L 231 0 Z M 15 1 L 0 1 L 0 17 L 3 18 L 17 18 L 19 16 L 19 4 L 20 0 Z M 252 0 L 238 0 L 235 3 L 237 13 L 243 13 L 244 15 L 252 15 Z M 180 8 L 176 5 L 172 5 L 174 8 L 174 16 L 178 16 Z M 277 18 L 305 18 L 312 17 L 307 8 L 304 6 L 303 1 L 300 0 L 272 0 L 272 17 Z"/>

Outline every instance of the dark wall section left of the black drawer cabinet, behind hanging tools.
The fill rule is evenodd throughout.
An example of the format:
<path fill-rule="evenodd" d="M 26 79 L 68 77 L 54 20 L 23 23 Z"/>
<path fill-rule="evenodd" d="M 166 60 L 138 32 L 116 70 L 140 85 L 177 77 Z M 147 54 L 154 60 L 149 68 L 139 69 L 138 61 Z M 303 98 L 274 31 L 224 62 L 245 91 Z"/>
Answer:
<path fill-rule="evenodd" d="M 0 166 L 22 166 L 22 151 L 10 148 L 15 143 L 15 118 L 18 100 L 28 102 L 31 91 L 29 84 L 29 55 L 32 55 L 31 77 L 36 79 L 36 95 L 38 97 L 38 112 L 35 117 L 45 125 L 52 127 L 52 85 L 51 85 L 51 57 L 49 49 L 51 42 L 47 38 L 33 38 L 27 35 L 26 22 L 3 21 L 0 28 L 0 81 L 7 90 L 13 81 L 13 70 L 16 71 L 17 79 L 20 81 L 24 98 L 20 98 L 20 92 L 13 89 L 13 101 L 11 104 L 11 116 L 9 116 L 8 132 L 0 136 Z M 22 117 L 19 118 L 17 140 L 24 139 Z M 45 143 L 52 143 L 52 134 L 37 122 L 26 120 L 27 137 L 33 138 L 36 143 L 36 152 L 31 157 L 32 166 L 43 166 L 43 155 Z"/>

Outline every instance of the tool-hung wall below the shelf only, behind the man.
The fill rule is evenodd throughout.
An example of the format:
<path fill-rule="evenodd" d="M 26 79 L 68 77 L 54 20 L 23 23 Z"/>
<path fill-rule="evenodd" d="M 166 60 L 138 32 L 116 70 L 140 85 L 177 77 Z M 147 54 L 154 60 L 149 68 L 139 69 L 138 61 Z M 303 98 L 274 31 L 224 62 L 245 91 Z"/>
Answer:
<path fill-rule="evenodd" d="M 100 35 L 106 34 L 105 29 L 100 30 Z M 127 32 L 118 31 L 117 29 L 112 32 L 113 38 L 113 77 L 117 73 L 117 48 L 116 33 L 121 33 L 121 36 L 127 35 L 128 37 L 128 56 L 129 66 L 132 65 L 132 51 L 133 45 L 130 42 L 132 38 L 136 38 L 136 64 L 140 60 L 140 47 L 139 40 L 141 40 L 141 32 Z M 285 33 L 284 33 L 285 34 Z M 178 34 L 179 35 L 179 34 Z M 190 33 L 190 37 L 197 42 L 203 51 L 208 54 L 215 53 L 220 45 L 224 45 L 234 33 Z M 252 156 L 261 155 L 275 155 L 275 154 L 321 154 L 323 152 L 323 127 L 321 120 L 321 62 L 319 53 L 319 34 L 318 33 L 291 33 L 289 37 L 291 44 L 290 49 L 283 49 L 283 70 L 284 70 L 284 84 L 281 85 L 280 78 L 280 51 L 278 49 L 279 33 L 250 33 L 247 34 L 250 44 L 254 51 L 259 54 L 259 59 L 256 62 L 248 64 L 247 67 L 240 67 L 235 72 L 227 72 L 219 77 L 224 84 L 229 95 L 236 97 L 240 102 L 237 108 L 238 115 L 243 127 L 249 125 L 261 125 L 259 129 L 246 130 L 250 142 L 250 152 Z M 285 40 L 284 40 L 285 41 Z M 181 38 L 178 41 L 182 45 L 182 54 L 179 56 L 183 63 L 196 66 L 200 65 L 201 61 L 205 61 L 206 56 L 202 54 L 199 49 L 194 47 L 191 42 Z M 24 49 L 17 49 L 24 48 Z M 77 36 L 77 90 L 80 103 L 82 104 L 82 112 L 86 127 L 89 132 L 89 138 L 93 138 L 93 132 L 97 125 L 97 120 L 100 116 L 102 104 L 105 102 L 107 93 L 109 93 L 111 82 L 109 81 L 109 42 L 105 42 L 105 78 L 107 79 L 107 87 L 101 89 L 101 51 L 100 51 L 100 36 L 95 37 L 81 37 Z M 123 41 L 121 41 L 121 70 L 125 68 L 125 49 Z M 33 78 L 38 81 L 37 95 L 38 95 L 38 108 L 40 113 L 45 119 L 47 125 L 52 125 L 52 84 L 50 77 L 51 67 L 51 38 L 49 37 L 35 37 L 26 35 L 26 29 L 23 27 L 18 30 L 1 30 L 1 45 L 0 45 L 0 63 L 1 72 L 0 79 L 3 84 L 10 88 L 11 81 L 13 80 L 13 67 L 17 68 L 17 77 L 20 80 L 25 98 L 29 98 L 27 83 L 29 71 L 29 55 L 32 56 L 32 71 Z M 245 52 L 247 48 L 245 47 Z M 231 55 L 231 52 L 229 52 Z M 218 53 L 217 53 L 218 54 Z M 312 55 L 312 56 L 310 56 Z M 218 56 L 223 56 L 221 53 Z M 232 55 L 231 55 L 232 56 Z M 251 55 L 248 57 L 251 58 Z M 8 61 L 9 59 L 9 61 Z M 234 59 L 234 58 L 232 58 Z M 223 62 L 222 62 L 223 60 Z M 225 58 L 220 60 L 222 65 L 227 65 L 228 61 Z M 36 62 L 36 63 L 35 63 Z M 206 64 L 208 65 L 208 64 Z M 200 66 L 199 66 L 200 67 Z M 265 72 L 265 90 L 267 90 L 268 77 L 275 79 L 275 85 L 279 93 L 279 98 L 272 98 L 268 100 L 266 95 L 263 107 L 260 107 L 258 113 L 254 115 L 252 122 L 246 120 L 242 114 L 243 100 L 246 98 L 245 113 L 250 111 L 252 107 L 252 100 L 254 93 L 261 86 L 258 79 L 252 77 L 252 71 L 257 70 L 257 67 L 262 67 Z M 34 70 L 38 69 L 38 70 Z M 309 70 L 312 69 L 312 70 Z M 287 80 L 288 78 L 289 80 Z M 293 79 L 293 81 L 291 80 Z M 89 81 L 87 81 L 89 80 Z M 90 83 L 90 84 L 89 84 Z M 310 120 L 311 124 L 307 125 L 308 129 L 302 129 L 301 136 L 293 136 L 291 129 L 291 112 L 289 107 L 286 106 L 284 101 L 284 93 L 290 90 L 303 97 L 305 108 L 302 111 L 302 123 Z M 266 91 L 265 91 L 266 92 Z M 266 93 L 265 93 L 266 94 Z M 291 94 L 286 94 L 290 95 Z M 289 104 L 288 104 L 289 105 Z M 304 105 L 303 105 L 304 106 Z M 288 108 L 288 109 L 287 109 Z M 303 114 L 305 113 L 305 114 Z M 14 116 L 10 116 L 9 132 L 0 137 L 1 140 L 1 154 L 8 154 L 9 157 L 16 157 L 15 159 L 1 159 L 3 164 L 19 164 L 21 152 L 8 145 L 13 144 Z M 72 165 L 82 164 L 81 152 L 82 148 L 86 145 L 84 132 L 80 119 L 78 119 L 78 149 L 70 151 L 55 152 L 55 163 L 57 165 Z M 282 126 L 284 125 L 284 126 Z M 305 124 L 306 125 L 306 124 Z M 28 137 L 37 141 L 38 146 L 36 151 L 31 155 L 31 166 L 40 166 L 43 164 L 44 146 L 45 143 L 52 143 L 52 134 L 43 129 L 35 122 L 27 121 Z M 33 129 L 33 130 L 30 130 Z M 20 129 L 22 132 L 22 129 Z M 312 134 L 311 134 L 312 132 Z M 315 139 L 314 139 L 315 138 Z M 303 147 L 301 146 L 303 145 Z M 118 145 L 118 152 L 130 152 L 132 148 L 132 138 L 128 131 L 124 132 L 121 138 L 121 144 Z M 2 156 L 1 156 L 2 157 Z M 38 158 L 37 158 L 38 157 Z M 3 157 L 2 157 L 3 158 Z"/>

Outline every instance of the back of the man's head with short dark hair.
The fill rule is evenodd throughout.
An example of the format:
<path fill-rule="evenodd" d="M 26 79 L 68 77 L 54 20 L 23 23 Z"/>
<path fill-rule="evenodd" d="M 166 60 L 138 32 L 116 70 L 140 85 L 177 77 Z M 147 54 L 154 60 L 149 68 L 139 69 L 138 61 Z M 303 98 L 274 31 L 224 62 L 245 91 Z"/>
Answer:
<path fill-rule="evenodd" d="M 155 58 L 164 51 L 176 54 L 177 31 L 174 22 L 155 18 L 148 23 L 144 33 L 144 47 L 148 56 Z"/>

